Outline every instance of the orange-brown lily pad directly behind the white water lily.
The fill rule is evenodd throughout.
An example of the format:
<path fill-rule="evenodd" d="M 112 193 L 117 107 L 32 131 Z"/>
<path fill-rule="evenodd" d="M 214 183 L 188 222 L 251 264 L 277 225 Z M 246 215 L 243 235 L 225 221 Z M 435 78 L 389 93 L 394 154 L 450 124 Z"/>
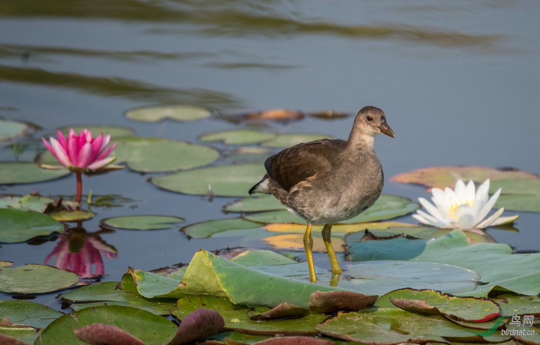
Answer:
<path fill-rule="evenodd" d="M 428 187 L 454 188 L 457 180 L 482 183 L 505 179 L 538 179 L 537 174 L 524 171 L 501 171 L 485 166 L 433 166 L 401 173 L 390 178 L 392 182 L 411 183 Z"/>

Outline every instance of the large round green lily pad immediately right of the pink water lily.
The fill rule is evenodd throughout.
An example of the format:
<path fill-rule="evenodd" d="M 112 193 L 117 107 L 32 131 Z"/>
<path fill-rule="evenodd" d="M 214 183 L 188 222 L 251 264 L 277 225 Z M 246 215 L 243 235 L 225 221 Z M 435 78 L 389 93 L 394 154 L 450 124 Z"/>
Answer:
<path fill-rule="evenodd" d="M 116 163 L 126 162 L 138 172 L 188 170 L 213 163 L 219 158 L 215 148 L 163 138 L 118 138 L 111 154 Z"/>

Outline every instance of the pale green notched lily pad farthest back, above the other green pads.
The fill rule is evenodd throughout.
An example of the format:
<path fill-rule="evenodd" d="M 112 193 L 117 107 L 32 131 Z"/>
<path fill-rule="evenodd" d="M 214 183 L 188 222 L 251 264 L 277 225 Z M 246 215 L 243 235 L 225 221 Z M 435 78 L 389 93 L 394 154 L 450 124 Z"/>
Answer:
<path fill-rule="evenodd" d="M 210 111 L 193 105 L 158 105 L 127 110 L 128 119 L 145 122 L 157 122 L 163 119 L 176 121 L 194 121 L 210 116 Z"/>

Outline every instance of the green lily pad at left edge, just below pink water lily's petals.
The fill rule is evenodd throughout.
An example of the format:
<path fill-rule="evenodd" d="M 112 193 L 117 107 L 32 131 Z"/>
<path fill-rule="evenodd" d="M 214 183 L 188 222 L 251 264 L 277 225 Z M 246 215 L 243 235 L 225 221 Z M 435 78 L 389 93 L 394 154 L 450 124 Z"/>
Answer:
<path fill-rule="evenodd" d="M 43 169 L 31 162 L 1 162 L 0 185 L 18 183 L 36 183 L 58 179 L 69 175 L 68 169 Z"/>

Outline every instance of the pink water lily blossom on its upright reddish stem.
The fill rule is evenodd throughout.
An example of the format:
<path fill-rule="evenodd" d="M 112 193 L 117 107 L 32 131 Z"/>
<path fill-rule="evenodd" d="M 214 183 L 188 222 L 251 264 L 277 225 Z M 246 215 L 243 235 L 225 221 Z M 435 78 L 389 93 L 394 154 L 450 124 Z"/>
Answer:
<path fill-rule="evenodd" d="M 80 204 L 80 198 L 83 192 L 83 181 L 81 173 L 86 170 L 99 170 L 106 165 L 111 164 L 116 157 L 107 156 L 116 147 L 116 142 L 107 148 L 111 141 L 111 136 L 103 136 L 100 133 L 96 138 L 92 138 L 92 132 L 89 130 L 82 130 L 79 135 L 71 128 L 69 130 L 68 138 L 64 137 L 64 134 L 58 131 L 58 139 L 50 138 L 51 142 L 48 143 L 45 138 L 43 144 L 51 152 L 51 154 L 68 168 L 70 171 L 77 175 L 77 195 L 76 200 Z M 42 167 L 45 167 L 42 165 Z"/>

